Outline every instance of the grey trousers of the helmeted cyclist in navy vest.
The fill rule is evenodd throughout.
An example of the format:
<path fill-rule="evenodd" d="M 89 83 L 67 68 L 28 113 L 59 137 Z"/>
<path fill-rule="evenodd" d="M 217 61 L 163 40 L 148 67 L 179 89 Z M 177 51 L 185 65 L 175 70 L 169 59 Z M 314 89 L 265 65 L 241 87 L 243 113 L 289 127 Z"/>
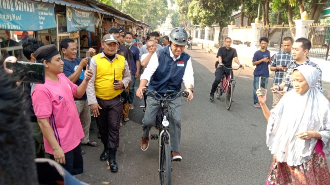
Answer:
<path fill-rule="evenodd" d="M 147 107 L 145 117 L 142 120 L 143 137 L 149 134 L 151 126 L 155 125 L 157 112 L 160 108 L 160 102 L 152 97 L 147 99 Z M 181 138 L 181 100 L 177 98 L 168 105 L 170 135 L 171 135 L 171 151 L 179 152 Z"/>

